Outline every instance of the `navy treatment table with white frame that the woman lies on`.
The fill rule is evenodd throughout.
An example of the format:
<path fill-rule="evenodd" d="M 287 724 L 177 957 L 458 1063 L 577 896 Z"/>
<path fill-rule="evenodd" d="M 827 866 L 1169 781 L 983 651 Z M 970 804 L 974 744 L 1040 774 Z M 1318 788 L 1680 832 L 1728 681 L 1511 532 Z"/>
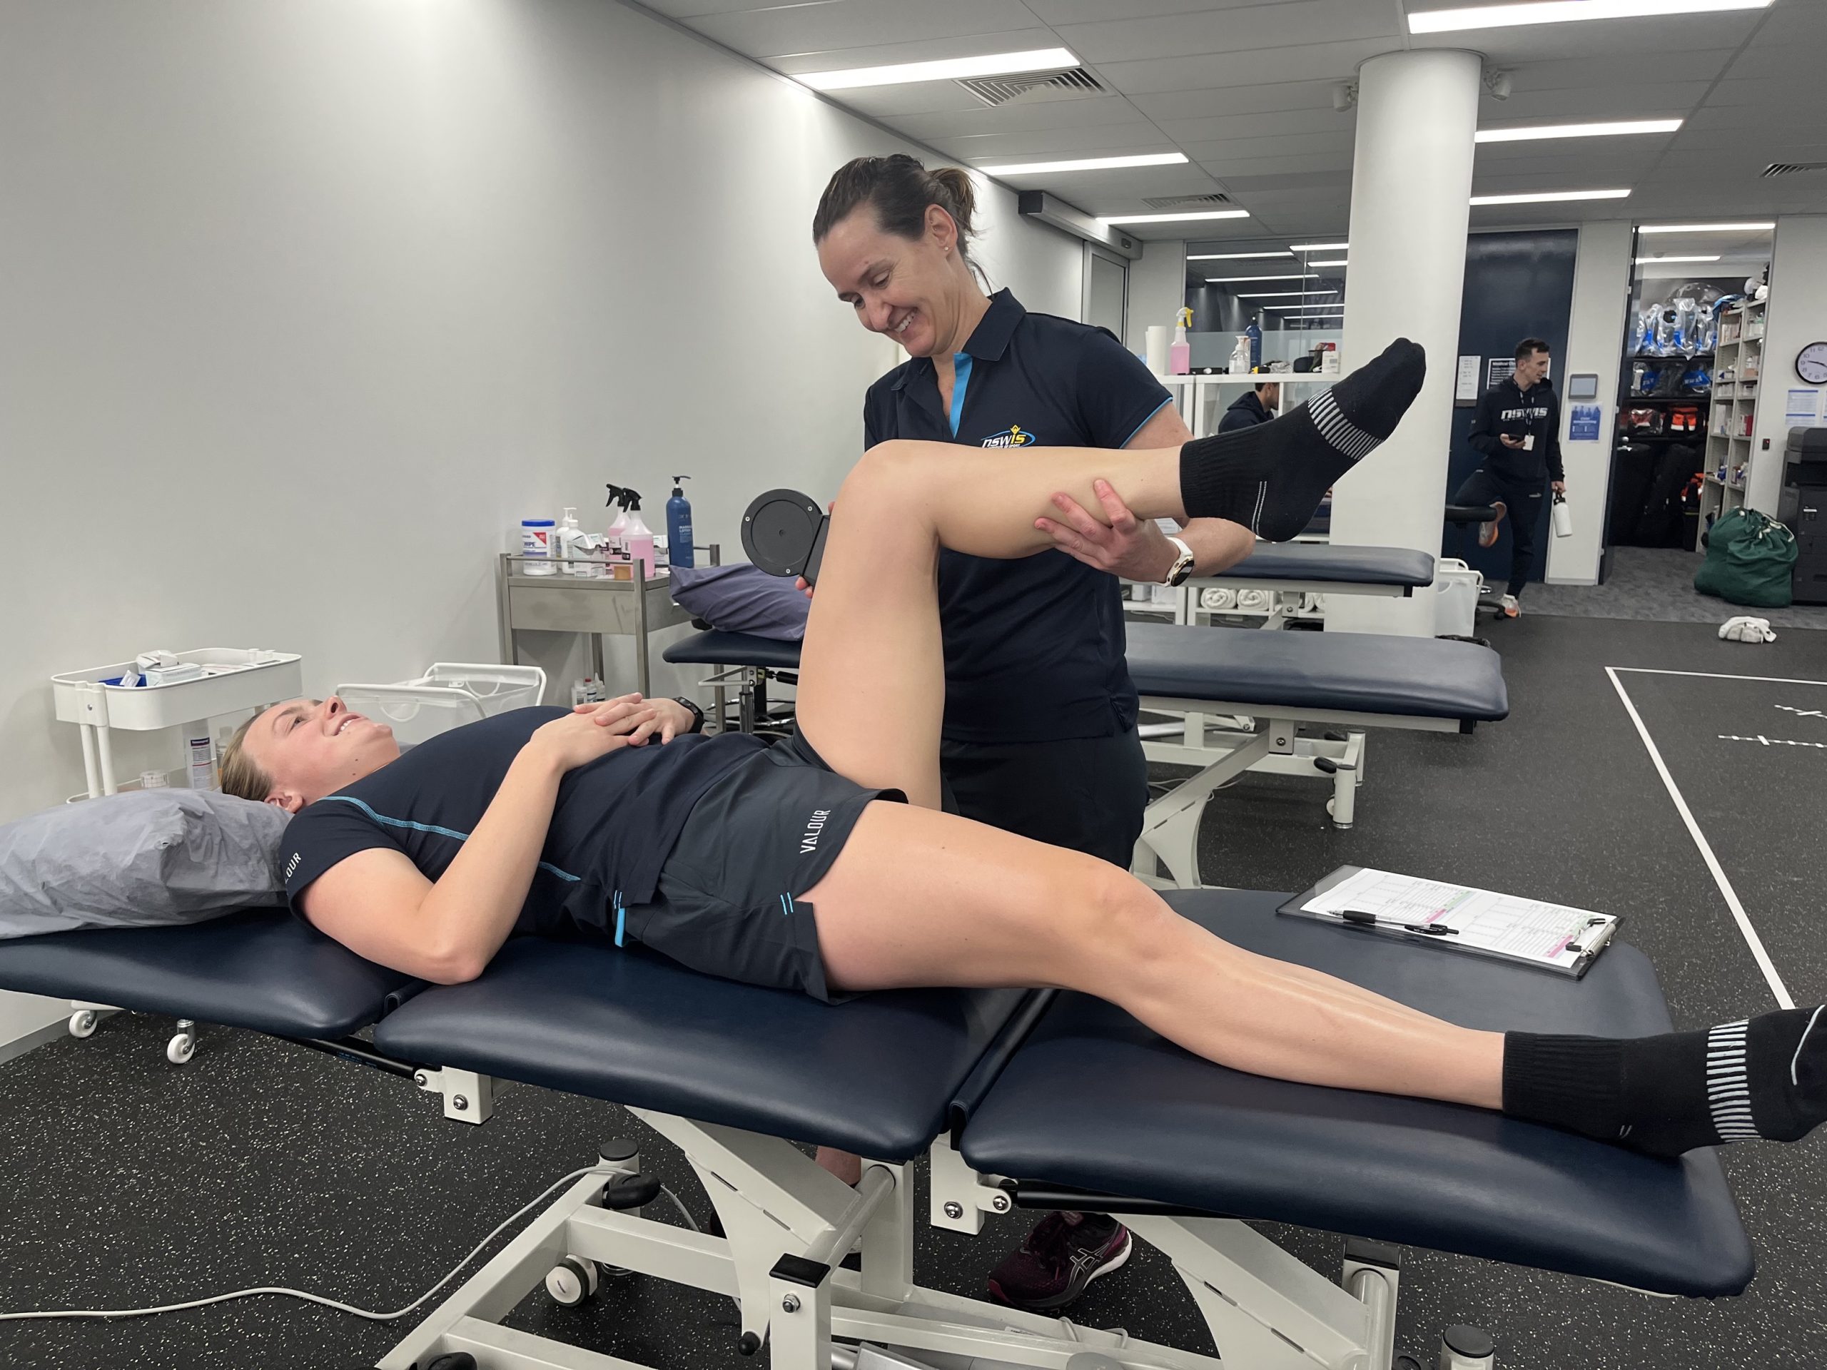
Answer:
<path fill-rule="evenodd" d="M 1668 1028 L 1655 975 L 1630 946 L 1566 981 L 1283 919 L 1281 899 L 1169 895 L 1246 948 L 1463 1025 Z M 919 990 L 833 1008 L 639 948 L 539 939 L 510 943 L 473 983 L 426 988 L 274 910 L 0 943 L 0 988 L 303 1041 L 442 1092 L 446 1114 L 466 1122 L 486 1118 L 497 1076 L 614 1100 L 691 1158 L 723 1235 L 661 1222 L 663 1206 L 652 1218 L 623 1207 L 616 1195 L 641 1162 L 610 1149 L 382 1370 L 424 1370 L 453 1352 L 484 1370 L 628 1370 L 499 1326 L 548 1271 L 594 1280 L 590 1262 L 736 1297 L 744 1344 L 766 1339 L 784 1370 L 828 1370 L 833 1335 L 915 1365 L 952 1354 L 1058 1368 L 1100 1352 L 1109 1361 L 1080 1365 L 1217 1370 L 1204 1355 L 914 1286 L 908 1162 L 923 1151 L 939 1226 L 976 1231 L 985 1213 L 1012 1207 L 1124 1215 L 1173 1259 L 1231 1370 L 1389 1370 L 1401 1279 L 1389 1242 L 1666 1295 L 1730 1295 L 1752 1277 L 1712 1153 L 1670 1164 L 1476 1109 L 1246 1076 L 1072 994 Z M 373 1047 L 323 1039 L 358 1027 L 375 1028 Z M 839 1184 L 784 1138 L 861 1151 L 871 1158 L 862 1184 Z M 1241 1218 L 1352 1233 L 1341 1280 Z M 862 1271 L 840 1270 L 859 1240 Z"/>

